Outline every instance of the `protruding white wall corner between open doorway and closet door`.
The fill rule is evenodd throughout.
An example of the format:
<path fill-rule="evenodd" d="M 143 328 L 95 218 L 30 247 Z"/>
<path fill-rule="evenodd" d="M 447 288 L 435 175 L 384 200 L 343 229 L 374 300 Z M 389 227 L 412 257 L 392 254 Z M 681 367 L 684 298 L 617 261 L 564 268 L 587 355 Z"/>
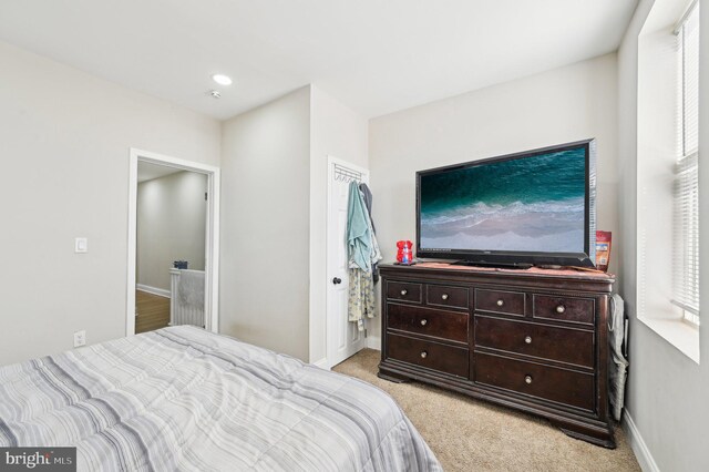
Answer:
<path fill-rule="evenodd" d="M 224 123 L 222 332 L 326 357 L 327 158 L 367 154 L 368 121 L 314 85 Z"/>

